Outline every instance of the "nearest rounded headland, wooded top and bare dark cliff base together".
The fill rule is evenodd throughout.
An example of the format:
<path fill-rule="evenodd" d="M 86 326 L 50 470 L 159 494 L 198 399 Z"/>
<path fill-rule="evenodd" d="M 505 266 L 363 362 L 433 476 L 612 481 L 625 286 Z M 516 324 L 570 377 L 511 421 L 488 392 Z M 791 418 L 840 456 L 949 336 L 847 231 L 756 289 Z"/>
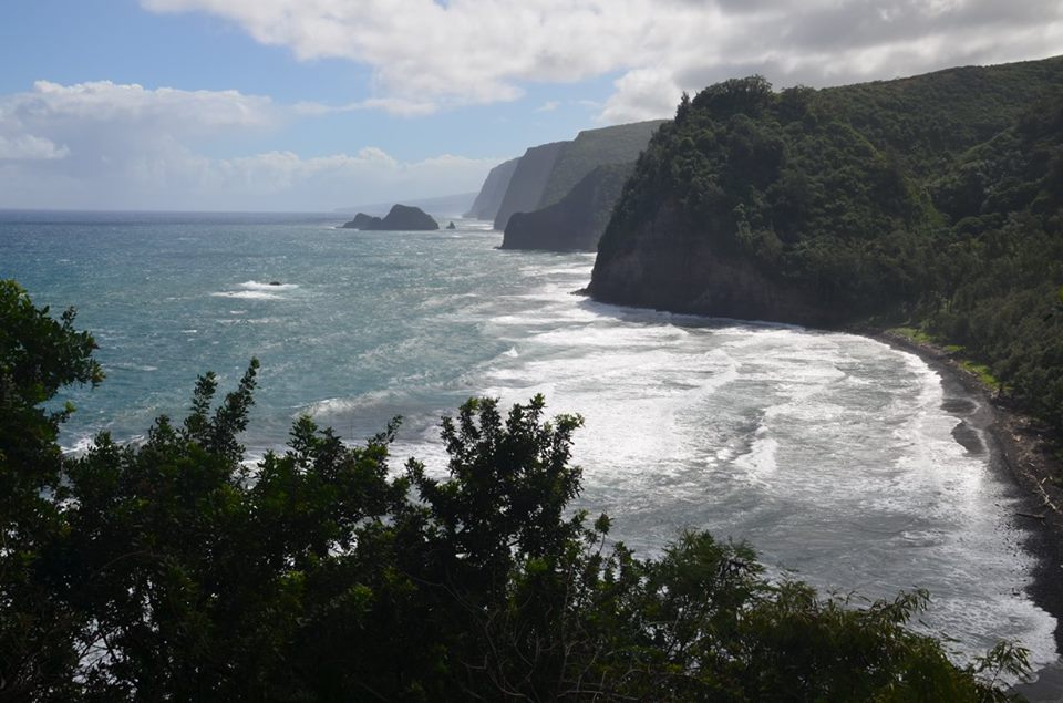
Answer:
<path fill-rule="evenodd" d="M 653 137 L 599 244 L 589 291 L 834 324 L 909 299 L 906 262 L 880 252 L 914 252 L 930 220 L 920 190 L 815 92 L 729 81 L 684 102 Z"/>

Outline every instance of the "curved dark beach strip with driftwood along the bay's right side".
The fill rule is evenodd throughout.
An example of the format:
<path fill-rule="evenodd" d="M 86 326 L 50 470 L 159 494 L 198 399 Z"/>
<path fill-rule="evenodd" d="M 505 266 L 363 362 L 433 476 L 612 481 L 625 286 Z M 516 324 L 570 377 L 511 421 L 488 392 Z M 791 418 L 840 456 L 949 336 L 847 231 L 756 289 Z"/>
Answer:
<path fill-rule="evenodd" d="M 954 435 L 966 446 L 963 424 L 981 431 L 991 467 L 1015 488 L 1020 507 L 1012 513 L 1011 523 L 1026 533 L 1023 548 L 1036 564 L 1026 592 L 1056 619 L 1055 644 L 1063 662 L 1063 489 L 1055 483 L 1063 476 L 1063 464 L 1047 451 L 1039 423 L 1001 403 L 992 389 L 936 344 L 884 330 L 853 332 L 916 354 L 941 375 L 946 386 L 954 384 L 979 401 L 969 415 L 957 414 L 961 424 Z M 1034 671 L 1033 675 L 1036 680 L 1016 686 L 1016 692 L 1030 701 L 1063 701 L 1063 663 Z"/>

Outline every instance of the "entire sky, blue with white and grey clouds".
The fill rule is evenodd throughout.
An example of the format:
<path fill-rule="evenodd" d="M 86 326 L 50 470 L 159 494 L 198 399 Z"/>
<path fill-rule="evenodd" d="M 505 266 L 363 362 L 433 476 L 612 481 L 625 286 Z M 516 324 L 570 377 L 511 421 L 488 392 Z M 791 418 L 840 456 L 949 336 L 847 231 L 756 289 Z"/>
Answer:
<path fill-rule="evenodd" d="M 475 192 L 683 91 L 1063 54 L 1061 0 L 7 0 L 0 208 L 329 211 Z"/>

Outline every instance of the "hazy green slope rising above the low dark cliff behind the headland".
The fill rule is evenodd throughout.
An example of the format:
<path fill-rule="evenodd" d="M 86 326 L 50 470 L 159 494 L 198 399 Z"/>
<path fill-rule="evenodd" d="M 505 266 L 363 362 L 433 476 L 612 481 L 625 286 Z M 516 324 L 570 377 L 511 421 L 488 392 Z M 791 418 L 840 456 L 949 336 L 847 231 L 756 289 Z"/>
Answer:
<path fill-rule="evenodd" d="M 585 130 L 566 144 L 543 189 L 538 207 L 554 205 L 598 166 L 633 163 L 664 120 Z"/>

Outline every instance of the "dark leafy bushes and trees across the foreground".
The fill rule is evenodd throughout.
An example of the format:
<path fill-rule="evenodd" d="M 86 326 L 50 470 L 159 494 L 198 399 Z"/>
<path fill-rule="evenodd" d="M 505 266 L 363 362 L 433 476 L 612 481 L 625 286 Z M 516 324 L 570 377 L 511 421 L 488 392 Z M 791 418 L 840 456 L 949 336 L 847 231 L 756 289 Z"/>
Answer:
<path fill-rule="evenodd" d="M 80 458 L 41 404 L 100 381 L 92 338 L 0 285 L 0 700 L 999 701 L 1001 644 L 958 668 L 908 629 L 685 534 L 657 559 L 572 513 L 580 418 L 541 397 L 442 422 L 445 475 L 301 417 L 257 466 L 257 363 L 219 402 Z"/>

